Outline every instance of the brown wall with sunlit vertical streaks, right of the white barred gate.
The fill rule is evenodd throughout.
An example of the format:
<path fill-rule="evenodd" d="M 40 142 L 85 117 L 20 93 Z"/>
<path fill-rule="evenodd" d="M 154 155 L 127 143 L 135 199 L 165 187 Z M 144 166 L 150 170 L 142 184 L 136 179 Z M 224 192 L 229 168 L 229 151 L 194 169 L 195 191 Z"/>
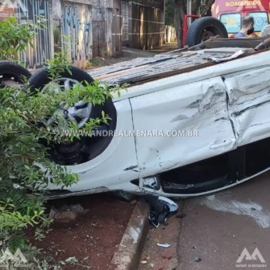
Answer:
<path fill-rule="evenodd" d="M 129 2 L 128 46 L 137 49 L 153 49 L 165 41 L 163 10 Z"/>

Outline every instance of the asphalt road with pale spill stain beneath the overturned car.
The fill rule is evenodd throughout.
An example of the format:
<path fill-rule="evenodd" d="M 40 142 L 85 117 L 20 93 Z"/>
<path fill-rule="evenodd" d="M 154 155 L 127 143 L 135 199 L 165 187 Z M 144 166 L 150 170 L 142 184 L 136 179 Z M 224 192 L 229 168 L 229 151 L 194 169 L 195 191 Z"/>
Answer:
<path fill-rule="evenodd" d="M 183 211 L 181 270 L 270 269 L 270 173 L 214 195 L 186 199 Z M 238 263 L 244 248 L 247 256 Z M 253 254 L 256 248 L 261 258 Z"/>

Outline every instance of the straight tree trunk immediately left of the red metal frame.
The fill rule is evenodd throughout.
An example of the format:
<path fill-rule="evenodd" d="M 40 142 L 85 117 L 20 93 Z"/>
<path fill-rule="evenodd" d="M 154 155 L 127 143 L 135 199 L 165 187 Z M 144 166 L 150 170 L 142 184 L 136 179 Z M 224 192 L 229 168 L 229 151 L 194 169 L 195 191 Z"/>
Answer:
<path fill-rule="evenodd" d="M 184 0 L 174 0 L 174 25 L 178 48 L 182 48 L 184 7 Z"/>

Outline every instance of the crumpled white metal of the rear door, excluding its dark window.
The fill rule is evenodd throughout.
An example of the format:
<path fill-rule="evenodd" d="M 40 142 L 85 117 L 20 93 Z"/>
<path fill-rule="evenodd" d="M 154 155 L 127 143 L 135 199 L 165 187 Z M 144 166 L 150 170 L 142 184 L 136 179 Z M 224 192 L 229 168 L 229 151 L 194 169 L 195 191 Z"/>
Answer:
<path fill-rule="evenodd" d="M 225 79 L 225 85 L 237 146 L 269 137 L 270 66 L 235 74 Z"/>

